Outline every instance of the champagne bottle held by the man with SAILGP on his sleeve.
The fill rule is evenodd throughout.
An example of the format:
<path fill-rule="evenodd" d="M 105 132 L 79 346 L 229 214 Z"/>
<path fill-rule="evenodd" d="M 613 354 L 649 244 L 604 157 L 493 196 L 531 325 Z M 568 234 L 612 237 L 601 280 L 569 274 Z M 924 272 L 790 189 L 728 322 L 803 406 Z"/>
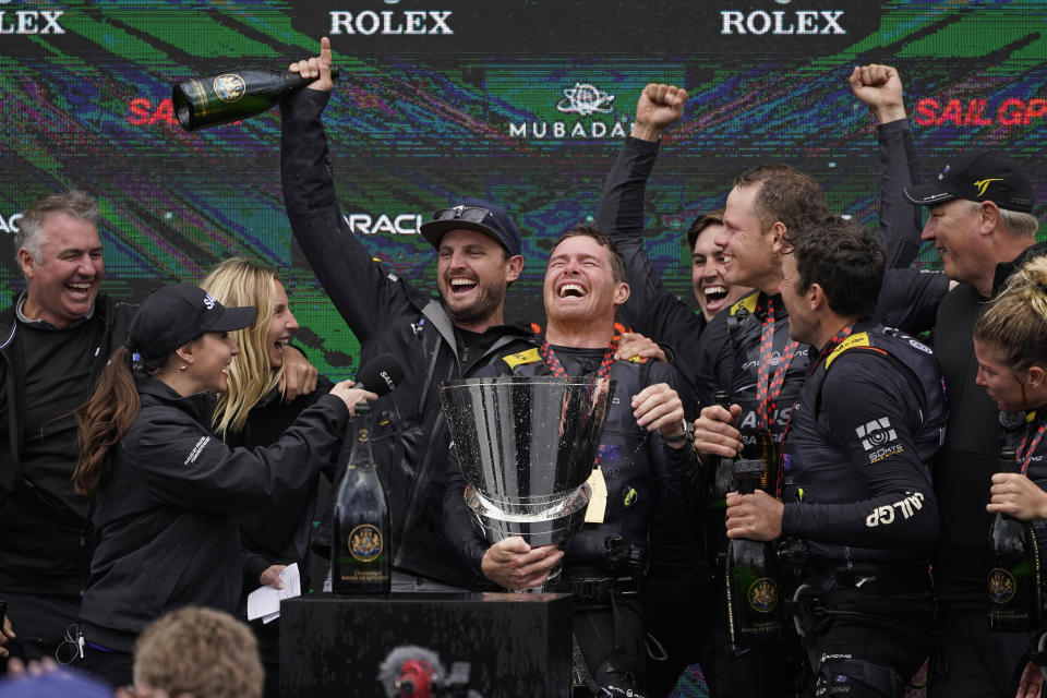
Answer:
<path fill-rule="evenodd" d="M 741 494 L 756 492 L 765 476 L 762 460 L 734 461 L 734 482 Z M 753 646 L 778 640 L 782 631 L 781 594 L 773 543 L 730 539 L 725 579 L 731 641 Z"/>

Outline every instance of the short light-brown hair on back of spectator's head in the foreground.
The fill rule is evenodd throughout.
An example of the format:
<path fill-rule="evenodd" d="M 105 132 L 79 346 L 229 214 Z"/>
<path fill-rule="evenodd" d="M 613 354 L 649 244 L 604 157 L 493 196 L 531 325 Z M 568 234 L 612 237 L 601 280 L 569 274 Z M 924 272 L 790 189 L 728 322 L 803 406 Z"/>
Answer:
<path fill-rule="evenodd" d="M 222 611 L 172 611 L 149 624 L 134 643 L 137 688 L 172 697 L 261 698 L 264 681 L 254 634 Z"/>

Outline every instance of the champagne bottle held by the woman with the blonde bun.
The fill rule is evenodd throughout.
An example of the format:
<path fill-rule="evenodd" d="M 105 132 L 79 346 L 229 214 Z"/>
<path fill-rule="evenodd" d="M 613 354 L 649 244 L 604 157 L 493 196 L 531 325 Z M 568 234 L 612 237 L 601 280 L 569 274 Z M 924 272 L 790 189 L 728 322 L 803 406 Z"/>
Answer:
<path fill-rule="evenodd" d="M 1000 472 L 1019 472 L 1014 449 L 1000 452 Z M 997 514 L 989 525 L 989 628 L 1025 633 L 1040 627 L 1039 546 L 1028 522 Z"/>

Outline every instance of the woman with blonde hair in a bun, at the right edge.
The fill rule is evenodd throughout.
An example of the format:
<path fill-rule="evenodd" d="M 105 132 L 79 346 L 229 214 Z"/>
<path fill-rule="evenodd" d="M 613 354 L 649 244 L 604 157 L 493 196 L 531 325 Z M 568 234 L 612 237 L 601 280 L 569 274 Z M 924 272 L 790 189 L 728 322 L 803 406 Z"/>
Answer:
<path fill-rule="evenodd" d="M 1047 257 L 1011 276 L 974 325 L 977 384 L 1000 408 L 1004 445 L 1020 473 L 992 476 L 989 513 L 1033 521 L 1042 554 L 1047 544 Z M 1018 696 L 1039 696 L 1043 676 L 1028 664 Z"/>

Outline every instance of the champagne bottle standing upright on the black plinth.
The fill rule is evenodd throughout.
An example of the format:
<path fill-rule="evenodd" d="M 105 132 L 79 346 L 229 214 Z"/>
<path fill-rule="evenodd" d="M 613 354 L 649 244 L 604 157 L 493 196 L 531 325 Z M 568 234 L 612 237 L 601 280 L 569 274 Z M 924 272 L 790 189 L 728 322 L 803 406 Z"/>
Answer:
<path fill-rule="evenodd" d="M 370 409 L 361 404 L 349 428 L 356 441 L 335 500 L 330 544 L 332 591 L 389 592 L 389 505 L 371 453 Z"/>

